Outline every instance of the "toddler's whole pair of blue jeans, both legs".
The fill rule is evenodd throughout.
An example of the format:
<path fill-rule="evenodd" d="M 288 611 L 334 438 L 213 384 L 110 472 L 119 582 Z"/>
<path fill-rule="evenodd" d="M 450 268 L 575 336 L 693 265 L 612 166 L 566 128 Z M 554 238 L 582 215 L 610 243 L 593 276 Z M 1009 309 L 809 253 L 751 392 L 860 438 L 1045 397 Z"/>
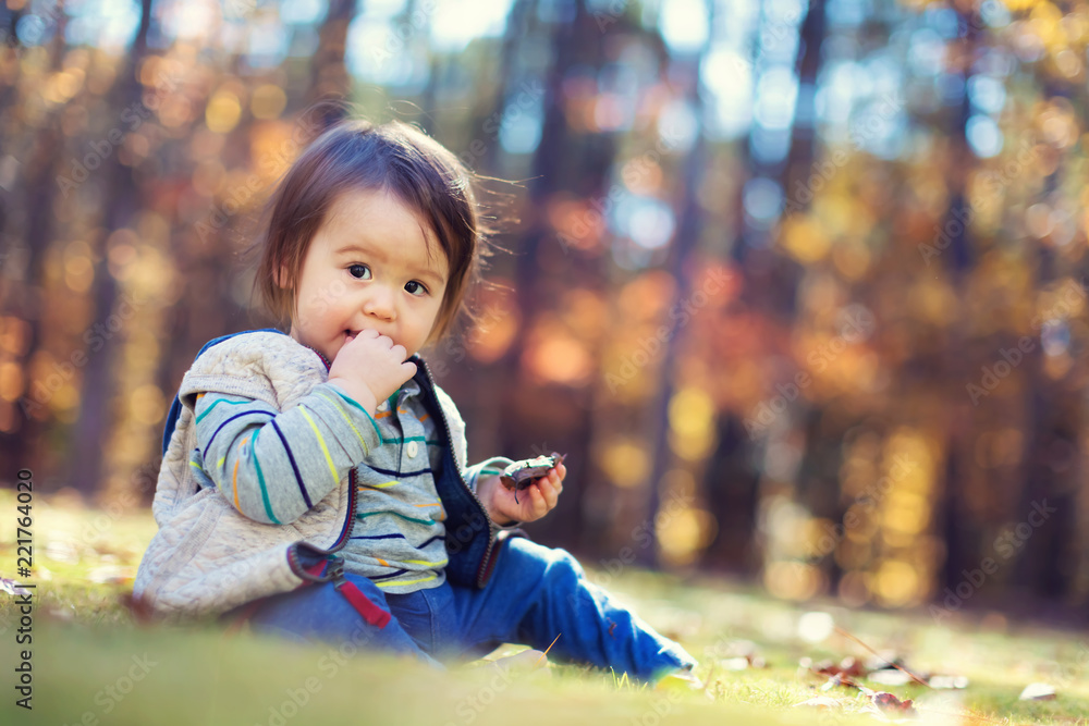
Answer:
<path fill-rule="evenodd" d="M 413 655 L 436 667 L 475 659 L 501 643 L 549 651 L 549 659 L 611 667 L 653 681 L 696 661 L 634 613 L 586 580 L 564 550 L 511 538 L 482 589 L 444 582 L 407 594 L 382 592 L 365 577 L 346 574 L 393 618 L 367 624 L 332 583 L 316 583 L 266 598 L 250 615 L 257 632 L 303 641 L 343 643 Z"/>

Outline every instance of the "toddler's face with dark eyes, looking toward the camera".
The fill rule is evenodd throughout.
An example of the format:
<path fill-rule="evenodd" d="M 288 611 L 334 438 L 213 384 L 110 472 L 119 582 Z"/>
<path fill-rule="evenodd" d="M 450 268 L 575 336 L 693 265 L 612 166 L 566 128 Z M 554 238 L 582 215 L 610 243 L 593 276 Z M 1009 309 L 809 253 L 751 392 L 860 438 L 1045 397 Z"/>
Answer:
<path fill-rule="evenodd" d="M 446 275 L 435 234 L 409 208 L 384 192 L 345 192 L 303 260 L 291 336 L 332 361 L 350 335 L 371 329 L 411 356 L 431 333 Z"/>

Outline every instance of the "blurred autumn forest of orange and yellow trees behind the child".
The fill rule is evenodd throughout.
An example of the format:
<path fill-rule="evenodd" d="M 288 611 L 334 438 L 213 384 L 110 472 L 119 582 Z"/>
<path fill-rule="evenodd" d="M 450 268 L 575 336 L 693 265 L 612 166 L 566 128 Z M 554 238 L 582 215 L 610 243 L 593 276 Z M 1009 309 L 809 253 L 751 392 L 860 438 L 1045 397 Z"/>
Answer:
<path fill-rule="evenodd" d="M 146 507 L 305 144 L 400 119 L 481 177 L 472 460 L 605 574 L 1085 622 L 1089 5 L 8 0 L 0 481 Z M 334 102 L 330 102 L 334 101 Z M 340 101 L 340 102 L 335 102 Z"/>

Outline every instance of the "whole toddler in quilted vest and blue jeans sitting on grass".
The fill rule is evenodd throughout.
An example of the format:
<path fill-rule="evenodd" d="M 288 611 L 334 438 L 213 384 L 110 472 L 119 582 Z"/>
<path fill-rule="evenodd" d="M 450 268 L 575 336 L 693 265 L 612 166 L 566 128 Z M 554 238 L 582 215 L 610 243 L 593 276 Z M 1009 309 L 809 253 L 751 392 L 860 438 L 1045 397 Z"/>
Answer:
<path fill-rule="evenodd" d="M 217 339 L 182 380 L 138 602 L 433 665 L 554 641 L 560 661 L 690 675 L 680 645 L 516 529 L 555 507 L 562 464 L 516 499 L 498 476 L 511 459 L 466 463 L 418 355 L 479 274 L 458 160 L 406 124 L 344 121 L 269 205 L 255 284 L 290 332 Z"/>

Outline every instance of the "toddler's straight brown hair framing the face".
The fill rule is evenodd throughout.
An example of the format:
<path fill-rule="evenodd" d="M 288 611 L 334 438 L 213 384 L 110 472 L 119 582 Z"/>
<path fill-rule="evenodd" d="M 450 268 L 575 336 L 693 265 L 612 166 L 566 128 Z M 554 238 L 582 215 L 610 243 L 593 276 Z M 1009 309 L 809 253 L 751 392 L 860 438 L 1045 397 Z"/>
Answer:
<path fill-rule="evenodd" d="M 268 225 L 249 250 L 259 255 L 254 290 L 277 319 L 294 319 L 310 242 L 337 198 L 352 189 L 392 194 L 438 238 L 450 275 L 429 340 L 441 340 L 480 276 L 490 230 L 478 211 L 473 174 L 441 144 L 401 121 L 343 120 L 299 155 L 268 200 Z M 277 282 L 281 269 L 283 286 Z"/>

